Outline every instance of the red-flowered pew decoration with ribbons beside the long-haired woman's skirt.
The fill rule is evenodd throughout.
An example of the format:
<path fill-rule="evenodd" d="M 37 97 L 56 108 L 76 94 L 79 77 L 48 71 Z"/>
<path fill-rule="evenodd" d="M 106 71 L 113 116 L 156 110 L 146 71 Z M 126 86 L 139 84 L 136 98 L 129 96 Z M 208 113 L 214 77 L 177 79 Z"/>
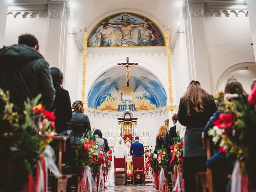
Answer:
<path fill-rule="evenodd" d="M 184 142 L 180 140 L 180 138 L 174 138 L 174 145 L 170 146 L 172 154 L 170 167 L 174 167 L 174 172 L 176 172 L 176 182 L 173 191 L 180 191 L 184 189 L 184 182 L 182 179 L 183 146 Z"/>

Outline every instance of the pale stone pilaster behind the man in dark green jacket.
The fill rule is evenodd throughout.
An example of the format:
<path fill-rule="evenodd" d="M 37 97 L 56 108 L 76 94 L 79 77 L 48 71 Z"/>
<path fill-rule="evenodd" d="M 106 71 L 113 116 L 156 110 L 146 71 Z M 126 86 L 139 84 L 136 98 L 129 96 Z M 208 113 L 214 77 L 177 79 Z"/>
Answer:
<path fill-rule="evenodd" d="M 65 16 L 66 2 L 50 1 L 48 2 L 49 25 L 46 40 L 46 60 L 50 66 L 58 67 L 61 71 L 63 65 Z"/>

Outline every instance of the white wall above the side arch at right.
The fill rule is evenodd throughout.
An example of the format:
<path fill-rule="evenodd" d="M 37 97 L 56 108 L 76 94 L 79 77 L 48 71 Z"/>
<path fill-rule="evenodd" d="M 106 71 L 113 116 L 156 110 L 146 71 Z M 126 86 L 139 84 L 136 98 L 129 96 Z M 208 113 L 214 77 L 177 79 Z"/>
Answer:
<path fill-rule="evenodd" d="M 230 12 L 228 16 L 223 12 L 219 16 L 218 12 L 214 12 L 213 16 L 209 15 L 209 12 L 205 13 L 205 23 L 212 65 L 212 81 L 216 93 L 217 82 L 225 70 L 238 63 L 255 62 L 255 58 L 253 46 L 251 46 L 249 19 L 244 13 L 240 12 L 236 16 L 235 13 Z"/>

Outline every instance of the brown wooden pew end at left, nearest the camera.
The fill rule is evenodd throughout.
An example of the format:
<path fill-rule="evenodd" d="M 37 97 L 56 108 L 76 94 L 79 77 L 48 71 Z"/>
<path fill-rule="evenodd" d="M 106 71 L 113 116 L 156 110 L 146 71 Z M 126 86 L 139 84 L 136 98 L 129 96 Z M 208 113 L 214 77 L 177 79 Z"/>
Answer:
<path fill-rule="evenodd" d="M 66 137 L 65 136 L 55 136 L 53 138 L 52 148 L 56 154 L 56 164 L 60 173 L 62 174 L 62 153 L 66 150 Z M 49 181 L 54 180 L 54 186 L 52 186 L 52 191 L 65 192 L 68 182 L 68 178 L 72 177 L 72 174 L 62 175 L 62 177 L 55 179 L 53 174 L 49 174 Z"/>

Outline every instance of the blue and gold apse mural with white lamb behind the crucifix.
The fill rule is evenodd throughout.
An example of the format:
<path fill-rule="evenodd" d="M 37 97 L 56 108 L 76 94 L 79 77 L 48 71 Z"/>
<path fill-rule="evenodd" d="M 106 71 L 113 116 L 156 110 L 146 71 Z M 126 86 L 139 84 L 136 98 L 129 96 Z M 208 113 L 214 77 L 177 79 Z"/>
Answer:
<path fill-rule="evenodd" d="M 123 111 L 124 103 L 130 110 L 149 110 L 166 105 L 166 92 L 160 81 L 152 73 L 138 66 L 131 69 L 130 85 L 126 86 L 123 68 L 113 68 L 104 72 L 92 85 L 88 94 L 91 108 Z"/>

